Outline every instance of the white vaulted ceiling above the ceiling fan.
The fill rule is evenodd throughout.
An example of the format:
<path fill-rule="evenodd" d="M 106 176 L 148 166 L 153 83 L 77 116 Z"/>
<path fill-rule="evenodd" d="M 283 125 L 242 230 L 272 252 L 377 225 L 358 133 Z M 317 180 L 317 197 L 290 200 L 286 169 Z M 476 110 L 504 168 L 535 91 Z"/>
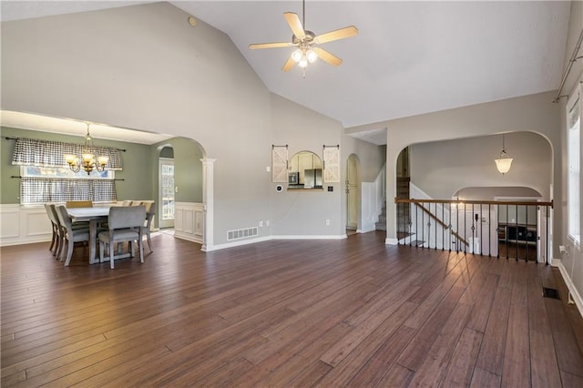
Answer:
<path fill-rule="evenodd" d="M 557 89 L 570 9 L 563 1 L 308 0 L 306 29 L 353 25 L 359 34 L 322 45 L 343 64 L 319 60 L 304 78 L 298 67 L 281 72 L 292 48 L 248 48 L 290 41 L 282 14 L 302 16 L 300 0 L 170 3 L 228 34 L 271 92 L 345 128 Z M 2 20 L 129 4 L 136 2 L 2 1 Z M 385 142 L 378 129 L 351 136 Z"/>

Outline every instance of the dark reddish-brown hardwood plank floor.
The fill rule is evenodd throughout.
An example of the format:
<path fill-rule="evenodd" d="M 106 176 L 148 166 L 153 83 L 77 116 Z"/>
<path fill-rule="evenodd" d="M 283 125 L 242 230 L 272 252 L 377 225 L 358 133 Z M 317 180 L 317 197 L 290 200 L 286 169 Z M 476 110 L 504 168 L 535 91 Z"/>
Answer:
<path fill-rule="evenodd" d="M 2 386 L 583 386 L 556 269 L 384 237 L 204 253 L 161 234 L 113 271 L 2 248 Z"/>

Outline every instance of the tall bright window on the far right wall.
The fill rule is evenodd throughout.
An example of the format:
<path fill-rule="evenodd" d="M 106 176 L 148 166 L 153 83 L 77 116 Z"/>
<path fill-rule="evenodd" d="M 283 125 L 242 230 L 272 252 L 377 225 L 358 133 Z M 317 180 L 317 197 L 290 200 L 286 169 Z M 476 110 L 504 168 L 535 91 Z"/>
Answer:
<path fill-rule="evenodd" d="M 581 243 L 581 87 L 567 104 L 568 140 L 568 236 L 576 244 Z"/>

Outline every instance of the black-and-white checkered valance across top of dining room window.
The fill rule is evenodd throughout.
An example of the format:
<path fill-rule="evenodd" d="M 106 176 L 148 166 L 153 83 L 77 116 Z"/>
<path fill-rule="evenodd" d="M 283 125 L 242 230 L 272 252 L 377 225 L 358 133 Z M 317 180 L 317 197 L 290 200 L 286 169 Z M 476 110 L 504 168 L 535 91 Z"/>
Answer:
<path fill-rule="evenodd" d="M 94 155 L 109 158 L 107 169 L 121 170 L 123 168 L 121 151 L 118 148 L 96 146 L 91 147 L 90 151 Z M 82 152 L 82 144 L 38 140 L 35 138 L 16 138 L 12 164 L 19 166 L 68 167 L 64 155 L 74 154 L 80 157 Z"/>

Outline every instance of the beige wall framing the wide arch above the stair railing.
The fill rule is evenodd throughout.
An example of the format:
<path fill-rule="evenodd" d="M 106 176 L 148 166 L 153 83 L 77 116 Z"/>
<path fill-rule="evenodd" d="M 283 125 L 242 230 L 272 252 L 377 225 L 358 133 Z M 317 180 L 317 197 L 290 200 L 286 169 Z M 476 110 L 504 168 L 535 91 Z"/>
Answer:
<path fill-rule="evenodd" d="M 396 242 L 395 208 L 391 199 L 396 194 L 396 160 L 403 148 L 412 144 L 530 131 L 546 138 L 551 149 L 560 149 L 560 111 L 558 104 L 551 102 L 553 98 L 553 92 L 539 93 L 350 128 L 350 131 L 387 128 L 387 241 Z M 555 196 L 561 190 L 557 189 L 560 173 L 560 153 L 553 152 L 551 179 Z M 557 227 L 560 229 L 559 222 L 555 222 L 556 230 Z"/>

